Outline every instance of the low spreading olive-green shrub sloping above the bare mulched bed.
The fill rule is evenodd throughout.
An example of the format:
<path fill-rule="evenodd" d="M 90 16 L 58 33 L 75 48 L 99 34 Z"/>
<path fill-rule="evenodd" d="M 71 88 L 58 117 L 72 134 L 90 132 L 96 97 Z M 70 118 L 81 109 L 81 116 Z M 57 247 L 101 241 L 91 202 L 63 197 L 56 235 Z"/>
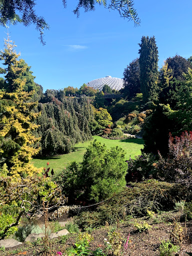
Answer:
<path fill-rule="evenodd" d="M 177 190 L 173 184 L 150 179 L 130 185 L 102 202 L 95 211 L 83 211 L 75 216 L 75 223 L 82 229 L 93 228 L 106 221 L 112 224 L 117 219 L 126 220 L 130 215 L 144 216 L 148 208 L 157 211 L 174 207 Z"/>

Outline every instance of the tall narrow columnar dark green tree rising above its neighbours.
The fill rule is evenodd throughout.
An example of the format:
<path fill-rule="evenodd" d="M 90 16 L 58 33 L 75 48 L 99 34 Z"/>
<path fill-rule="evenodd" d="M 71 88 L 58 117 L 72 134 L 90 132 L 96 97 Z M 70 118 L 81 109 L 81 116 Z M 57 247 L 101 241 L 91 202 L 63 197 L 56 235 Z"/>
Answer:
<path fill-rule="evenodd" d="M 158 50 L 154 36 L 142 36 L 139 46 L 140 90 L 143 101 L 157 100 Z"/>

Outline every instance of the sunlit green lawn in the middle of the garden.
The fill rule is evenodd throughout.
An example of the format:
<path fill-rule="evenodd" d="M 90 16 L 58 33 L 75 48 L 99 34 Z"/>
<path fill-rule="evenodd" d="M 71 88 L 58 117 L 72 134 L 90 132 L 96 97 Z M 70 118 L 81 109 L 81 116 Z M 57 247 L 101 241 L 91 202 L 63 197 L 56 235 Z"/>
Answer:
<path fill-rule="evenodd" d="M 140 154 L 140 149 L 143 148 L 143 140 L 140 138 L 131 139 L 106 139 L 99 136 L 93 136 L 94 139 L 104 143 L 107 147 L 120 146 L 125 151 L 125 160 L 129 157 L 134 158 L 135 155 Z M 90 144 L 90 141 L 84 143 L 78 143 L 75 145 L 76 151 L 68 154 L 62 154 L 57 156 L 44 156 L 32 159 L 32 163 L 35 167 L 45 167 L 49 162 L 50 168 L 54 170 L 63 169 L 63 167 L 70 161 L 81 162 L 86 147 Z"/>

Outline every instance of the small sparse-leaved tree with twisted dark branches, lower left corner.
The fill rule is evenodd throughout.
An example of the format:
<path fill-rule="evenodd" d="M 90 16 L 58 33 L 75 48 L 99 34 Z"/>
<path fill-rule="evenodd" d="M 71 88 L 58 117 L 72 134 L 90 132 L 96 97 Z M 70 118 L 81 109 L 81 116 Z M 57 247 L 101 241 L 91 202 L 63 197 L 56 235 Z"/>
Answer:
<path fill-rule="evenodd" d="M 19 224 L 22 215 L 30 220 L 36 214 L 43 214 L 43 204 L 47 210 L 51 210 L 65 201 L 65 196 L 61 195 L 60 188 L 50 177 L 33 175 L 15 182 L 11 176 L 1 173 L 0 222 L 3 226 L 0 238 L 3 239 Z M 12 231 L 14 233 L 15 229 Z"/>

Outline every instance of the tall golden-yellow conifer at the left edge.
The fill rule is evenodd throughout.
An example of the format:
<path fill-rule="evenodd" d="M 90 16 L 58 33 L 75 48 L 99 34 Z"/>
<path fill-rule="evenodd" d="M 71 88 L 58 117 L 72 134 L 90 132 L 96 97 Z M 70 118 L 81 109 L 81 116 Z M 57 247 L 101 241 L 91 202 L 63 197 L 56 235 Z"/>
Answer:
<path fill-rule="evenodd" d="M 19 177 L 37 171 L 29 161 L 39 151 L 34 147 L 39 138 L 33 135 L 38 126 L 34 119 L 39 113 L 34 111 L 37 102 L 31 100 L 34 91 L 23 90 L 26 81 L 23 73 L 27 65 L 19 67 L 22 60 L 17 59 L 20 54 L 14 50 L 16 45 L 9 36 L 4 40 L 4 46 L 0 59 L 7 65 L 5 81 L 9 86 L 0 90 L 0 158 L 6 163 L 9 174 Z"/>

